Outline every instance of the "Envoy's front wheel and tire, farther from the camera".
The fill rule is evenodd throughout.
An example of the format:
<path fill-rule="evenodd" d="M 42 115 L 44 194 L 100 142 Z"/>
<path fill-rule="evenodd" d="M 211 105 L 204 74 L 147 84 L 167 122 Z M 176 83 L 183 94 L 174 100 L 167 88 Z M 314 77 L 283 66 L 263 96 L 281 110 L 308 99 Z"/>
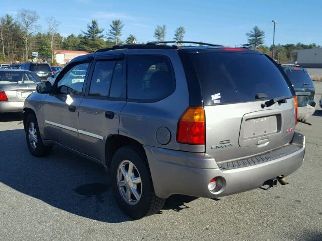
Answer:
<path fill-rule="evenodd" d="M 29 135 L 30 129 L 31 133 Z M 27 146 L 31 155 L 36 157 L 43 157 L 51 153 L 52 146 L 45 146 L 42 142 L 35 114 L 31 113 L 27 116 L 25 133 Z M 34 139 L 33 137 L 35 137 L 36 139 Z"/>

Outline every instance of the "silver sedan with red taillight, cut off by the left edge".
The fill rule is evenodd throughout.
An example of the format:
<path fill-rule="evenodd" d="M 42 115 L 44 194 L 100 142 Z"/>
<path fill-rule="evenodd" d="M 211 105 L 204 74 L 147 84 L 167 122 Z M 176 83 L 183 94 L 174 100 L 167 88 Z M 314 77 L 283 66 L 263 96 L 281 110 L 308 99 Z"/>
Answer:
<path fill-rule="evenodd" d="M 22 111 L 25 99 L 40 82 L 28 70 L 0 70 L 0 113 Z"/>

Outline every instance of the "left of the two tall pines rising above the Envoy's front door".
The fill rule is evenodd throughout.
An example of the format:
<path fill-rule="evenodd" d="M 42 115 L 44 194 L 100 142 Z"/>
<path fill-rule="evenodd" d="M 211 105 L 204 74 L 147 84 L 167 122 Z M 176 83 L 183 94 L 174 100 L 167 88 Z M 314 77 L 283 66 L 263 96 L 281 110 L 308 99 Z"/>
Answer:
<path fill-rule="evenodd" d="M 95 52 L 96 50 L 103 48 L 104 35 L 101 34 L 104 29 L 100 29 L 96 20 L 92 20 L 91 24 L 87 25 L 87 31 L 82 31 L 84 48 L 88 52 Z"/>

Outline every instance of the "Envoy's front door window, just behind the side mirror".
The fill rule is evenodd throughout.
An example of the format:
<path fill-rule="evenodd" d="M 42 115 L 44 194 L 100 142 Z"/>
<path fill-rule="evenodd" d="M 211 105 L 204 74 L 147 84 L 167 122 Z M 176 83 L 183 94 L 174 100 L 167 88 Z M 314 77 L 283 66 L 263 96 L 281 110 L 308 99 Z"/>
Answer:
<path fill-rule="evenodd" d="M 69 69 L 57 83 L 57 88 L 60 89 L 60 92 L 66 93 L 65 91 L 67 89 L 68 93 L 81 95 L 88 67 L 89 63 L 81 63 Z"/>

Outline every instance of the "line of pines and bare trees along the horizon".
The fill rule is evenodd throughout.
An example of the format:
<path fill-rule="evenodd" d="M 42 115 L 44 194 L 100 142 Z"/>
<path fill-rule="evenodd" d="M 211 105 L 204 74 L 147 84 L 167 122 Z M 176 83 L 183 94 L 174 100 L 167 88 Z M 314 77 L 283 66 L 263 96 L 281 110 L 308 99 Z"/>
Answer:
<path fill-rule="evenodd" d="M 38 25 L 39 15 L 28 9 L 18 11 L 16 18 L 6 14 L 0 19 L 0 61 L 28 61 L 32 52 L 38 52 L 39 58 L 54 60 L 54 50 L 78 50 L 95 52 L 100 48 L 108 48 L 118 44 L 138 43 L 134 34 L 130 34 L 122 40 L 124 24 L 116 19 L 111 22 L 109 29 L 99 27 L 96 20 L 92 20 L 78 35 L 70 34 L 67 37 L 61 36 L 58 32 L 60 23 L 53 17 L 46 19 L 46 30 L 40 31 Z M 173 39 L 183 41 L 186 30 L 183 26 L 175 29 Z M 154 31 L 156 41 L 165 41 L 167 34 L 166 25 L 158 25 Z M 255 26 L 249 33 L 246 33 L 247 43 L 243 46 L 271 53 L 272 46 L 264 45 L 265 32 Z M 274 58 L 280 62 L 295 60 L 296 55 L 292 50 L 316 48 L 316 44 L 305 45 L 302 43 L 276 45 Z"/>

